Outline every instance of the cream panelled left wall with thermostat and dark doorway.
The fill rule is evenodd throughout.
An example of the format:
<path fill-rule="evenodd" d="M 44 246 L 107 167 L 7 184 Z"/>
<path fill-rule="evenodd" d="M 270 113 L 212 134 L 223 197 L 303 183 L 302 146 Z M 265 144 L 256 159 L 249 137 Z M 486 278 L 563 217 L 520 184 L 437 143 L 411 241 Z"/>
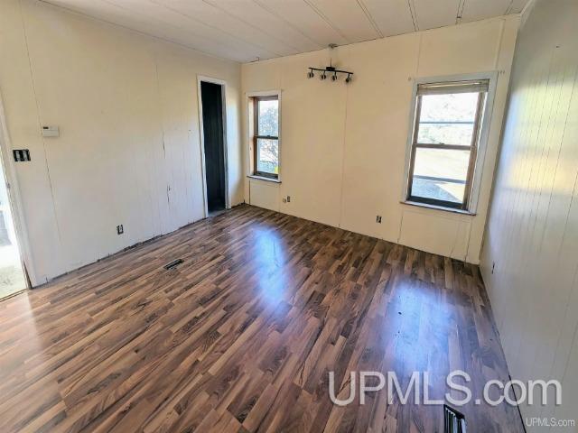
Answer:
<path fill-rule="evenodd" d="M 243 201 L 240 66 L 33 0 L 0 2 L 0 92 L 39 284 L 203 217 L 197 75 L 226 80 Z M 44 138 L 41 124 L 61 128 Z M 116 226 L 123 224 L 124 235 Z"/>

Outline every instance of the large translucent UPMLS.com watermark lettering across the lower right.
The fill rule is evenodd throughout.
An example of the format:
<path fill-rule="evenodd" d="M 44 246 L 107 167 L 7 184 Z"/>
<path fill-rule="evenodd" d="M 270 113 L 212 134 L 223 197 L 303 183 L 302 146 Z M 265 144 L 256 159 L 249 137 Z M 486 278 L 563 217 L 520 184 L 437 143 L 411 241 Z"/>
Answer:
<path fill-rule="evenodd" d="M 359 380 L 358 380 L 359 376 Z M 451 390 L 445 393 L 445 401 L 454 406 L 463 406 L 471 402 L 472 392 L 468 387 L 471 382 L 470 374 L 456 370 L 446 377 L 446 385 Z M 387 401 L 389 403 L 394 401 L 394 397 L 401 404 L 406 404 L 411 395 L 414 396 L 415 404 L 424 405 L 443 405 L 445 401 L 434 400 L 430 398 L 430 377 L 429 373 L 414 372 L 412 373 L 407 385 L 401 386 L 396 372 L 387 372 L 383 374 L 380 372 L 350 372 L 349 381 L 345 382 L 343 389 L 336 393 L 339 385 L 335 383 L 335 373 L 329 372 L 329 395 L 333 404 L 338 406 L 347 406 L 356 400 L 357 389 L 359 388 L 359 404 L 365 404 L 367 392 L 381 392 L 386 388 Z M 463 384 L 465 383 L 465 384 Z M 562 385 L 558 381 L 528 381 L 522 382 L 512 380 L 508 382 L 501 382 L 492 379 L 485 383 L 481 398 L 476 398 L 474 404 L 481 404 L 482 401 L 490 406 L 498 406 L 504 401 L 506 403 L 517 406 L 521 403 L 533 405 L 535 403 L 546 405 L 548 399 L 548 388 L 555 392 L 555 405 L 562 404 Z M 349 395 L 348 395 L 349 389 Z M 536 392 L 539 393 L 539 401 L 535 401 Z M 460 397 L 456 397 L 460 394 Z M 542 422 L 542 421 L 532 421 Z"/>

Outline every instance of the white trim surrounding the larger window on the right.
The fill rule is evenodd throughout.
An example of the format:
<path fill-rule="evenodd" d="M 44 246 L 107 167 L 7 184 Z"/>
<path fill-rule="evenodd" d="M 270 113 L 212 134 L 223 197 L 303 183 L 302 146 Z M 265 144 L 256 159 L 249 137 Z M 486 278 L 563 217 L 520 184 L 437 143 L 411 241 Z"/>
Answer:
<path fill-rule="evenodd" d="M 480 129 L 480 141 L 478 143 L 478 154 L 476 156 L 476 163 L 474 166 L 474 172 L 472 177 L 472 187 L 470 204 L 466 211 L 468 214 L 476 214 L 478 209 L 478 201 L 480 198 L 480 183 L 481 175 L 484 167 L 484 160 L 486 158 L 486 150 L 488 148 L 489 139 L 489 128 L 491 125 L 491 115 L 494 108 L 494 98 L 496 97 L 496 88 L 498 86 L 498 75 L 497 70 L 487 71 L 487 72 L 477 72 L 471 74 L 459 74 L 459 75 L 448 75 L 442 77 L 420 77 L 414 78 L 414 86 L 412 88 L 412 99 L 411 107 L 409 110 L 409 129 L 407 133 L 407 143 L 406 143 L 406 165 L 404 167 L 404 181 L 403 189 L 401 191 L 401 201 L 406 202 L 407 197 L 407 187 L 408 187 L 408 176 L 409 176 L 409 164 L 411 160 L 411 152 L 414 141 L 414 127 L 415 127 L 415 105 L 417 101 L 417 86 L 426 83 L 435 83 L 443 81 L 468 81 L 474 79 L 488 79 L 489 88 L 488 96 L 486 98 L 486 106 L 484 107 L 484 113 L 482 117 L 482 124 Z M 452 210 L 452 209 L 449 209 Z"/>

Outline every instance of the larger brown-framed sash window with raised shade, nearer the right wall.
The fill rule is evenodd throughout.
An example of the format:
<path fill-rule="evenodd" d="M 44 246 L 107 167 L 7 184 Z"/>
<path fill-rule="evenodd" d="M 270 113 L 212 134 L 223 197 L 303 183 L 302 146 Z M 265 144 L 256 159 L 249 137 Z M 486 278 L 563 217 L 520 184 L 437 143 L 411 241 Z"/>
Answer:
<path fill-rule="evenodd" d="M 420 84 L 406 199 L 469 210 L 489 80 Z"/>

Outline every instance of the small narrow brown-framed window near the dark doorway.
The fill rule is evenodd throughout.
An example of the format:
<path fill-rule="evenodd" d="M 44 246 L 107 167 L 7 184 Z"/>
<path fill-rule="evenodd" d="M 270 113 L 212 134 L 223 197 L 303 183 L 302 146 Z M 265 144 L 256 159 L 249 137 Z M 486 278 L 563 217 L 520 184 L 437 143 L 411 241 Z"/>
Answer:
<path fill-rule="evenodd" d="M 279 98 L 254 97 L 253 174 L 279 178 Z"/>

